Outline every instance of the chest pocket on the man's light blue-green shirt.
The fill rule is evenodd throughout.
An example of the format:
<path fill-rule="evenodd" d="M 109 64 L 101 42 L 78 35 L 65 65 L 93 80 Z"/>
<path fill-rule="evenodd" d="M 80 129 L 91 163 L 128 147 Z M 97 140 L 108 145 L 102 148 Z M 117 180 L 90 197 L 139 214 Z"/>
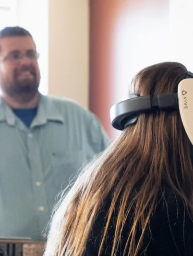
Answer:
<path fill-rule="evenodd" d="M 56 152 L 52 154 L 52 176 L 56 187 L 65 189 L 69 182 L 75 181 L 83 165 L 82 152 L 71 154 Z"/>

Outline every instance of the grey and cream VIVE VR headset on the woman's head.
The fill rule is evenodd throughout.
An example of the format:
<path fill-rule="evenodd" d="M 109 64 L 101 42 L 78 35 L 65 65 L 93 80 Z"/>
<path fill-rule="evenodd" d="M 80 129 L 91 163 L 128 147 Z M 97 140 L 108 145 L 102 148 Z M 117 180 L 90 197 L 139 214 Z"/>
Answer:
<path fill-rule="evenodd" d="M 112 126 L 123 131 L 128 125 L 135 124 L 141 113 L 160 109 L 179 110 L 185 131 L 193 144 L 193 73 L 187 72 L 185 79 L 178 84 L 177 94 L 138 96 L 129 94 L 127 99 L 115 104 L 110 111 Z"/>

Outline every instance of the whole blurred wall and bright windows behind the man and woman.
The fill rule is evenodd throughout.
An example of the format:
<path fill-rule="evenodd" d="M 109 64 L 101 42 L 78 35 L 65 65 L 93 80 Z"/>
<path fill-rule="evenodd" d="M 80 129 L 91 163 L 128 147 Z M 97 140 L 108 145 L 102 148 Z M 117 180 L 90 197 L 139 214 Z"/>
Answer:
<path fill-rule="evenodd" d="M 28 29 L 42 94 L 75 99 L 114 138 L 110 108 L 139 69 L 178 61 L 193 71 L 192 10 L 192 0 L 0 0 L 0 29 Z"/>

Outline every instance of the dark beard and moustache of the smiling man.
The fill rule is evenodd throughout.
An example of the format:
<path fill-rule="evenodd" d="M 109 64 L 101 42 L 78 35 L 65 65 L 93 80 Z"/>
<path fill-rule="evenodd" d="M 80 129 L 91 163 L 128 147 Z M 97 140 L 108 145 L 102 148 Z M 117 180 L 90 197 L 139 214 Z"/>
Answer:
<path fill-rule="evenodd" d="M 21 72 L 30 71 L 33 75 L 33 79 L 22 79 L 18 80 L 18 76 Z M 2 88 L 6 94 L 14 98 L 19 102 L 29 102 L 38 92 L 39 80 L 37 79 L 37 74 L 33 66 L 22 66 L 22 68 L 15 69 L 14 71 L 14 82 L 2 81 Z"/>

